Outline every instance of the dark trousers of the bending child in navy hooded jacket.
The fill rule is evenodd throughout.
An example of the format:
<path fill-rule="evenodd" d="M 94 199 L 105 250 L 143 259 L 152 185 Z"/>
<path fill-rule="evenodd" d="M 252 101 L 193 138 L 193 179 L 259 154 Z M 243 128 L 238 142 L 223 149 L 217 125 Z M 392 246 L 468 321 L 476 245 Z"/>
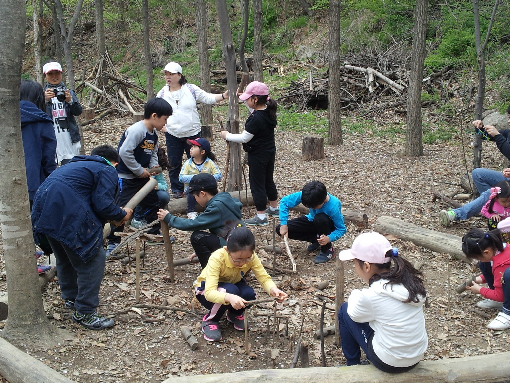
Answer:
<path fill-rule="evenodd" d="M 47 237 L 57 259 L 62 299 L 74 302 L 80 314 L 91 314 L 99 304 L 99 289 L 105 272 L 105 250 L 99 247 L 87 262 L 84 262 L 73 250 Z"/>

